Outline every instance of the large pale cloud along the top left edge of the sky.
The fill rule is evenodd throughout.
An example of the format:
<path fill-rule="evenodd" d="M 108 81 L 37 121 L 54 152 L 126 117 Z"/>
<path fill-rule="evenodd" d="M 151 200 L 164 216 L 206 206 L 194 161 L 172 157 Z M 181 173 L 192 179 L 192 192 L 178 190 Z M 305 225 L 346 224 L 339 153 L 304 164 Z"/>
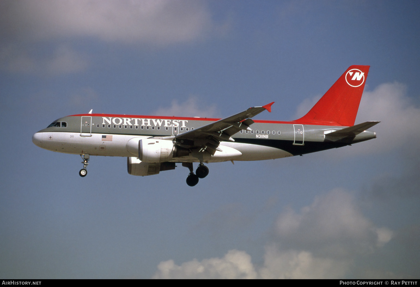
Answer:
<path fill-rule="evenodd" d="M 168 44 L 201 37 L 212 26 L 202 1 L 2 1 L 0 33 L 19 39 L 87 36 Z"/>

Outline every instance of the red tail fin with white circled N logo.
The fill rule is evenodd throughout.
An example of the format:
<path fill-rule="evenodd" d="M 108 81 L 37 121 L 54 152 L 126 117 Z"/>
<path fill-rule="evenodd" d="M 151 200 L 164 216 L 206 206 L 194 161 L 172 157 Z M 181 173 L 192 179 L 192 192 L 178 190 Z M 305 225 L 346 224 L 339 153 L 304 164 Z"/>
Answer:
<path fill-rule="evenodd" d="M 297 123 L 352 126 L 359 110 L 370 66 L 350 66 Z"/>

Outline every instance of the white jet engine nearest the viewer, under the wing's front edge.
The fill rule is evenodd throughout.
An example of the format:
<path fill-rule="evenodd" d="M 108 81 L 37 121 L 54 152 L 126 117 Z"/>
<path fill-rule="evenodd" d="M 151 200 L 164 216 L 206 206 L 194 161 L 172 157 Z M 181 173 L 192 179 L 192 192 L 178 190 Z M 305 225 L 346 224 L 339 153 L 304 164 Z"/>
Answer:
<path fill-rule="evenodd" d="M 185 157 L 189 150 L 174 146 L 172 141 L 145 138 L 139 140 L 139 159 L 142 162 L 167 162 L 174 157 Z"/>

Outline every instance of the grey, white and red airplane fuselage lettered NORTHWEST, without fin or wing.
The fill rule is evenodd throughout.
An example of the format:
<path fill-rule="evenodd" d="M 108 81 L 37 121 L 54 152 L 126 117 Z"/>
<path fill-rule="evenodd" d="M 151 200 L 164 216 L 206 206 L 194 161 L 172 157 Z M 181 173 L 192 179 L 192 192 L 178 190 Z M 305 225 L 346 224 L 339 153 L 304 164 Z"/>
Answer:
<path fill-rule="evenodd" d="M 39 130 L 32 141 L 39 147 L 67 154 L 138 157 L 139 140 L 171 138 L 219 119 L 201 117 L 155 117 L 138 115 L 81 114 L 62 117 Z M 255 120 L 252 130 L 234 134 L 234 141 L 222 141 L 222 152 L 204 162 L 278 159 L 346 146 L 375 138 L 365 130 L 354 137 L 331 141 L 328 133 L 346 127 L 306 125 L 295 122 Z M 200 162 L 193 154 L 174 157 L 172 162 Z"/>

